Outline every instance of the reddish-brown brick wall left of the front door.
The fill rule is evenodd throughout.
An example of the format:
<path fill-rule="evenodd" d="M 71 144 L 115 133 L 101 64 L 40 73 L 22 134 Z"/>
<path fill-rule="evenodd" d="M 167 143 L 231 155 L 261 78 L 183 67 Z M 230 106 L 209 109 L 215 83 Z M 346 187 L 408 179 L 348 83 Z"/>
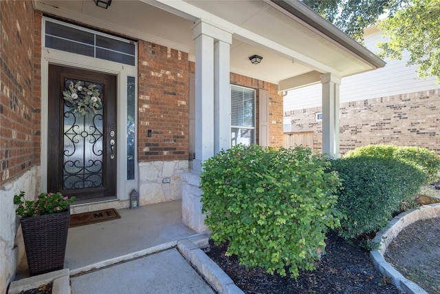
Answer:
<path fill-rule="evenodd" d="M 37 163 L 32 1 L 0 1 L 0 185 Z M 26 19 L 26 21 L 20 21 Z"/>

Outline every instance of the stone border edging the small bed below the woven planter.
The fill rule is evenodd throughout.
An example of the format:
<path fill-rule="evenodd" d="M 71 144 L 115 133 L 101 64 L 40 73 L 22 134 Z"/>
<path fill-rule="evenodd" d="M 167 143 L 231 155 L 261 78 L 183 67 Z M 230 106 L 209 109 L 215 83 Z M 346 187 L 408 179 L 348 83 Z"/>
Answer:
<path fill-rule="evenodd" d="M 34 277 L 26 277 L 10 284 L 8 294 L 19 294 L 21 291 L 38 288 L 43 284 L 52 284 L 52 294 L 70 294 L 70 277 L 69 269 L 61 269 L 44 273 L 43 275 L 35 275 Z"/>

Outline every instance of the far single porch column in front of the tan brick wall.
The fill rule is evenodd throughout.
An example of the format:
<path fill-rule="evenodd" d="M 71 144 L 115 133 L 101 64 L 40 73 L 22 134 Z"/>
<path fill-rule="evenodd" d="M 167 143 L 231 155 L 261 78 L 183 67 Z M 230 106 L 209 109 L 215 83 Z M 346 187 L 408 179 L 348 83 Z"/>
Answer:
<path fill-rule="evenodd" d="M 322 83 L 322 154 L 340 158 L 339 151 L 339 86 L 341 78 L 323 74 Z"/>

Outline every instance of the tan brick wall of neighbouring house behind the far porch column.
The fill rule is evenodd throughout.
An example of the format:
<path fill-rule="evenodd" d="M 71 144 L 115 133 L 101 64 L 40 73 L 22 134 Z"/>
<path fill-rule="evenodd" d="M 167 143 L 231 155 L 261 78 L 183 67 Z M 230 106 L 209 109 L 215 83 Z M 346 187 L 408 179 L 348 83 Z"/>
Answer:
<path fill-rule="evenodd" d="M 439 90 L 360 100 L 340 105 L 341 154 L 369 144 L 425 147 L 440 154 Z M 314 135 L 314 149 L 322 151 L 321 107 L 285 112 L 292 132 Z"/>

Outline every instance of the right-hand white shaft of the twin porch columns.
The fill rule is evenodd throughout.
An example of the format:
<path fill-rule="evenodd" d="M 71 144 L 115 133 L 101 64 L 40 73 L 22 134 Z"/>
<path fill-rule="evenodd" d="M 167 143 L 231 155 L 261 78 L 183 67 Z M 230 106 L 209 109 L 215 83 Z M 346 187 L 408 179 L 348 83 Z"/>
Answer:
<path fill-rule="evenodd" d="M 230 43 L 214 43 L 214 154 L 231 147 Z"/>

